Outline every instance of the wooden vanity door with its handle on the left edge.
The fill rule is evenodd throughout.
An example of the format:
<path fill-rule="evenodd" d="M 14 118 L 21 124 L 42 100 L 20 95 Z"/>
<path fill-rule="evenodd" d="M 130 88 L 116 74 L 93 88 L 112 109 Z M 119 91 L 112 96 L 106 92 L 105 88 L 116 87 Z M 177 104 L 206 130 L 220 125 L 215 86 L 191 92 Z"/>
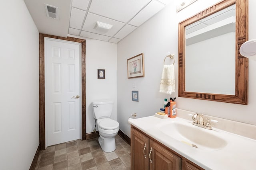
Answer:
<path fill-rule="evenodd" d="M 150 170 L 180 170 L 181 158 L 150 139 Z"/>

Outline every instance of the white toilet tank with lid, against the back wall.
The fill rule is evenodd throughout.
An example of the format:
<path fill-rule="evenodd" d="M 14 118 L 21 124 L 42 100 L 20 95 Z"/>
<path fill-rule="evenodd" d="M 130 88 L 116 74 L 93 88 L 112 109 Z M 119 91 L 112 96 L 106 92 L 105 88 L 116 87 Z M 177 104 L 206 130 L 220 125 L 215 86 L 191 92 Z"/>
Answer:
<path fill-rule="evenodd" d="M 102 119 L 110 117 L 113 108 L 112 101 L 97 101 L 92 102 L 93 117 L 94 119 Z"/>

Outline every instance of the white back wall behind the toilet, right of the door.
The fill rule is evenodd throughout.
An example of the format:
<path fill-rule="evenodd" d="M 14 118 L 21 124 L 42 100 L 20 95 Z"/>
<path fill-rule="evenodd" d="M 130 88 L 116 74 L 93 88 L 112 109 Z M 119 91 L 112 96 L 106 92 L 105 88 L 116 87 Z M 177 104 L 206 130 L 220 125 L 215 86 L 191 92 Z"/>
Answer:
<path fill-rule="evenodd" d="M 98 69 L 105 69 L 105 79 L 98 79 Z M 116 120 L 116 44 L 86 39 L 86 133 L 94 129 L 95 100 L 113 101 L 111 119 Z"/>

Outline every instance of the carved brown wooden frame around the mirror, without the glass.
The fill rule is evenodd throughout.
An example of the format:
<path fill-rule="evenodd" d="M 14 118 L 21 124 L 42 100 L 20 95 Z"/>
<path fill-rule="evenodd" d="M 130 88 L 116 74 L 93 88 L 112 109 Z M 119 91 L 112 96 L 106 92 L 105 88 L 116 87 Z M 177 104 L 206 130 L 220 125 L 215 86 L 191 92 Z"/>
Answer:
<path fill-rule="evenodd" d="M 236 83 L 235 95 L 186 92 L 185 90 L 185 27 L 210 14 L 236 4 Z M 179 23 L 179 68 L 178 96 L 234 104 L 248 104 L 248 59 L 240 55 L 239 49 L 248 40 L 248 0 L 223 0 L 206 10 Z"/>

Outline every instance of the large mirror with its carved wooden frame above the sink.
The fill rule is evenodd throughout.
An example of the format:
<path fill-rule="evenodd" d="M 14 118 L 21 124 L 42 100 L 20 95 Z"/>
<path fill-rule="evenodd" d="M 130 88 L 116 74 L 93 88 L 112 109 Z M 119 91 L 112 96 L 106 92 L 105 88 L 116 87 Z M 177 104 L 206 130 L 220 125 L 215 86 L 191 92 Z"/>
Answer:
<path fill-rule="evenodd" d="M 223 0 L 179 23 L 180 97 L 248 103 L 248 0 Z"/>

